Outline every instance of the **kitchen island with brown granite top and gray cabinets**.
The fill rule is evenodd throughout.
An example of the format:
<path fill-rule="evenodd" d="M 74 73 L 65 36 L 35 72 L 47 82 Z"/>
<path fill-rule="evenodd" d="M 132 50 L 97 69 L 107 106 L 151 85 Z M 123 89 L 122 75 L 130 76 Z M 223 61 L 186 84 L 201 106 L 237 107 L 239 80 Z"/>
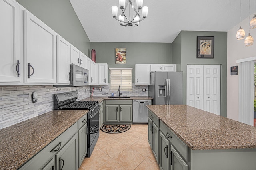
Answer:
<path fill-rule="evenodd" d="M 256 169 L 256 127 L 187 105 L 147 107 L 149 143 L 163 169 Z"/>

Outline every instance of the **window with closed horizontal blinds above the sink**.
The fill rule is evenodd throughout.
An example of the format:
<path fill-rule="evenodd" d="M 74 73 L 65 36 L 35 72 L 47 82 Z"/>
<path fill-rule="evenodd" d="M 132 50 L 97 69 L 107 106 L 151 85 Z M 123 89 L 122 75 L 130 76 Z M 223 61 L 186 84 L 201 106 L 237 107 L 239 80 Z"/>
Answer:
<path fill-rule="evenodd" d="M 132 68 L 109 68 L 110 91 L 132 91 Z"/>

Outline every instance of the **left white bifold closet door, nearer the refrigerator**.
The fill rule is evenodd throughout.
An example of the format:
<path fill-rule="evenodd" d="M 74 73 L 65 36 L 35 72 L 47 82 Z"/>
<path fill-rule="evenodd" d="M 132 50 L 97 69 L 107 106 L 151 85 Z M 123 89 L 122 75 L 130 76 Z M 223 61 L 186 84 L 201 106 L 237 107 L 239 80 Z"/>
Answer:
<path fill-rule="evenodd" d="M 203 65 L 187 65 L 187 105 L 203 109 Z"/>

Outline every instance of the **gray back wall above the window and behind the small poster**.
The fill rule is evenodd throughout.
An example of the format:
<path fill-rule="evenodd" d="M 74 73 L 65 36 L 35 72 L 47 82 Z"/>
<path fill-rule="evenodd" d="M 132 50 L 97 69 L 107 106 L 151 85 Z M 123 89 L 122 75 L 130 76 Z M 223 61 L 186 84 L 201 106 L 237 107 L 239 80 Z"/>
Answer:
<path fill-rule="evenodd" d="M 132 67 L 134 83 L 135 64 L 171 64 L 172 43 L 112 43 L 91 42 L 96 50 L 96 63 L 108 63 L 108 67 Z M 115 48 L 126 48 L 126 64 L 115 64 Z"/>

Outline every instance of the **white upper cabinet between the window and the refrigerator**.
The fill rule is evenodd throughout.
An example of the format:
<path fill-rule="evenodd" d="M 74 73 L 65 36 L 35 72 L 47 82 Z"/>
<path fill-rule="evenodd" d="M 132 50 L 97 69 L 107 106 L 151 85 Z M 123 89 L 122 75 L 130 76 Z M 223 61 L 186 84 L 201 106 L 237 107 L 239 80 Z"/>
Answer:
<path fill-rule="evenodd" d="M 136 85 L 150 85 L 150 64 L 135 64 Z"/>

